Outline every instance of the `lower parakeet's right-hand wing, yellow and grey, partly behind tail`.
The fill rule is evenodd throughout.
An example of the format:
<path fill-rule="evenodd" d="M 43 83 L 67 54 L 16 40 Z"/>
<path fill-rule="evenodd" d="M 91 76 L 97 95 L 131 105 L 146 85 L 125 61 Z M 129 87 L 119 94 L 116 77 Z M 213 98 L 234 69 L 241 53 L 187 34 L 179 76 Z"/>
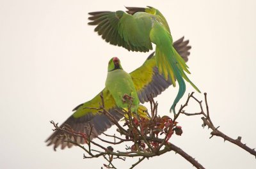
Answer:
<path fill-rule="evenodd" d="M 173 43 L 173 47 L 184 61 L 188 61 L 190 54 L 189 49 L 191 46 L 188 43 L 188 40 L 184 41 L 184 37 Z M 172 85 L 170 79 L 165 80 L 163 75 L 159 74 L 154 53 L 147 58 L 140 68 L 132 71 L 130 74 L 141 103 L 147 102 L 150 95 L 156 97 Z"/>

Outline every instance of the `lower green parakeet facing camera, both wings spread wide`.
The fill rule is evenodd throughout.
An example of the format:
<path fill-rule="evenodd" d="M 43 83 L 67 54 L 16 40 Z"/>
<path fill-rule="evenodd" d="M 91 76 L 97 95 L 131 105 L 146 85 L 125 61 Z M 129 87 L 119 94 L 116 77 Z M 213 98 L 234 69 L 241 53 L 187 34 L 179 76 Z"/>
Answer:
<path fill-rule="evenodd" d="M 173 47 L 179 52 L 184 61 L 188 61 L 188 55 L 190 54 L 189 49 L 191 47 L 188 46 L 188 43 L 189 41 L 184 41 L 184 37 L 173 43 Z M 101 103 L 101 93 L 104 97 L 104 108 L 115 117 L 116 121 L 119 121 L 123 116 L 116 113 L 116 110 L 127 107 L 127 103 L 122 102 L 124 93 L 132 96 L 132 110 L 136 112 L 138 108 L 138 114 L 140 114 L 141 111 L 145 111 L 145 108 L 141 107 L 139 103 L 147 102 L 150 96 L 156 97 L 170 85 L 172 85 L 170 78 L 166 80 L 163 75 L 159 74 L 154 52 L 149 55 L 140 68 L 129 74 L 122 70 L 120 61 L 114 57 L 109 61 L 106 87 L 95 96 L 95 98 L 74 108 L 74 114 L 68 117 L 60 128 L 64 124 L 67 124 L 74 129 L 75 132 L 86 133 L 88 135 L 91 124 L 93 128 L 90 138 L 95 138 L 113 125 L 106 115 L 89 108 L 99 107 L 99 103 Z M 47 145 L 53 144 L 54 149 L 59 145 L 61 145 L 61 149 L 72 147 L 72 143 L 63 142 L 66 136 L 60 135 L 61 131 L 54 131 L 45 142 L 48 142 Z M 71 137 L 72 140 L 76 140 L 77 143 L 84 143 L 83 138 L 74 137 L 72 135 L 68 136 Z"/>

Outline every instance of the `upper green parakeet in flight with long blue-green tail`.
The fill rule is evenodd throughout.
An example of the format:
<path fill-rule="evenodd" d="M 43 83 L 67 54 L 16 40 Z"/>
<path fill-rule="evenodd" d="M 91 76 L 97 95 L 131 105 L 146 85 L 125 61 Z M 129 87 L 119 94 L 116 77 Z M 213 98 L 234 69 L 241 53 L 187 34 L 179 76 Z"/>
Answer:
<path fill-rule="evenodd" d="M 170 109 L 175 114 L 175 105 L 186 91 L 184 79 L 191 84 L 196 91 L 199 89 L 189 80 L 185 71 L 188 66 L 173 47 L 172 35 L 166 19 L 156 8 L 127 7 L 125 11 L 96 11 L 89 13 L 92 22 L 89 25 L 97 26 L 95 31 L 104 40 L 112 45 L 122 46 L 127 50 L 148 52 L 152 50 L 152 43 L 156 44 L 157 68 L 165 80 L 175 80 L 179 83 L 179 92 Z"/>

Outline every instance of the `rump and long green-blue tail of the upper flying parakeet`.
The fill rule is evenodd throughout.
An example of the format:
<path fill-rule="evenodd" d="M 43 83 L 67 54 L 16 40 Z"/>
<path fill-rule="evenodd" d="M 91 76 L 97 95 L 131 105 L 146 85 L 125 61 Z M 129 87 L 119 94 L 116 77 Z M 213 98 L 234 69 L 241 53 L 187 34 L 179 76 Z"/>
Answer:
<path fill-rule="evenodd" d="M 200 91 L 185 74 L 184 71 L 190 73 L 188 71 L 188 66 L 182 57 L 180 57 L 178 52 L 172 47 L 171 34 L 168 33 L 168 31 L 166 31 L 166 29 L 164 29 L 160 24 L 155 24 L 150 32 L 150 40 L 156 44 L 156 60 L 159 73 L 164 75 L 166 80 L 170 78 L 172 80 L 173 87 L 176 86 L 176 79 L 179 84 L 179 92 L 173 101 L 172 107 L 170 108 L 170 112 L 173 110 L 173 113 L 175 114 L 175 106 L 186 91 L 184 79 L 189 82 L 196 91 Z"/>

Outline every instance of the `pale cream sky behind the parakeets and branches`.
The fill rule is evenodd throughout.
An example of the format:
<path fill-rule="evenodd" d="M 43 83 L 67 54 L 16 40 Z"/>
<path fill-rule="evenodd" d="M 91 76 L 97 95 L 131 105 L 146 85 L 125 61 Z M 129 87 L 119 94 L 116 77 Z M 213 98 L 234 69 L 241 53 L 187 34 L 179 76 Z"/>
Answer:
<path fill-rule="evenodd" d="M 256 147 L 255 1 L 0 1 L 0 168 L 100 168 L 103 159 L 83 159 L 78 147 L 57 152 L 45 146 L 50 120 L 62 123 L 72 108 L 104 87 L 107 64 L 119 57 L 130 72 L 150 53 L 109 45 L 88 26 L 88 12 L 154 6 L 168 20 L 173 40 L 192 45 L 189 78 L 208 93 L 212 121 L 232 138 Z M 157 97 L 169 114 L 178 88 Z M 189 85 L 186 91 L 194 91 Z M 184 103 L 186 95 L 179 102 Z M 203 99 L 203 94 L 195 96 Z M 198 112 L 191 104 L 189 112 Z M 248 152 L 209 139 L 200 117 L 179 117 L 184 131 L 172 142 L 205 168 L 256 168 Z M 108 133 L 115 131 L 110 129 Z M 135 159 L 116 160 L 128 168 Z M 143 161 L 137 168 L 193 168 L 174 152 Z"/>

